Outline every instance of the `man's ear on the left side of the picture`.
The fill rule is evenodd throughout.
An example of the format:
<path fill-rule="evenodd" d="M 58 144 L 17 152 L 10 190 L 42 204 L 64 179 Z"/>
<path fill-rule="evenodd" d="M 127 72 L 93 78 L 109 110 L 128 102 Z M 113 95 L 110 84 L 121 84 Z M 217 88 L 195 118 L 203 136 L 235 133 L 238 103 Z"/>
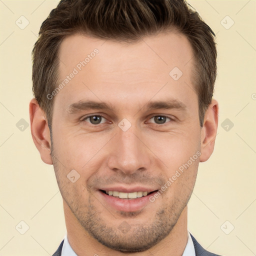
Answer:
<path fill-rule="evenodd" d="M 29 116 L 32 138 L 41 155 L 41 159 L 47 164 L 52 164 L 48 122 L 44 111 L 39 107 L 35 98 L 32 98 L 29 103 Z"/>

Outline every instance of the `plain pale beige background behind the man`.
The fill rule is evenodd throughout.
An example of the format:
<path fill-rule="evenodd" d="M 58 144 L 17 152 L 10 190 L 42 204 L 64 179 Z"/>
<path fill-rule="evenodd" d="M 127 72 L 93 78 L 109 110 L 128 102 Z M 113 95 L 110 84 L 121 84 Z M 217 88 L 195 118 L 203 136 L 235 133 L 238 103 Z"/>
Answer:
<path fill-rule="evenodd" d="M 0 0 L 0 256 L 51 255 L 66 231 L 53 167 L 41 161 L 30 126 L 20 130 L 29 124 L 32 46 L 57 2 Z M 220 106 L 215 150 L 199 165 L 188 203 L 188 230 L 212 252 L 256 255 L 256 2 L 188 2 L 217 34 Z M 20 29 L 22 15 L 29 24 Z M 227 131 L 226 118 L 234 124 Z"/>

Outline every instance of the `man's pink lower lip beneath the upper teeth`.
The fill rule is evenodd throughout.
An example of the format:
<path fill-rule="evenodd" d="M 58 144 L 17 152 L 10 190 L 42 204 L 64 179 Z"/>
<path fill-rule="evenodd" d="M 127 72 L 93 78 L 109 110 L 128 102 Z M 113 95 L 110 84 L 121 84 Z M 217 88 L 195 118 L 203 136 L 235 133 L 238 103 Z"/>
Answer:
<path fill-rule="evenodd" d="M 119 211 L 138 211 L 145 207 L 149 202 L 149 197 L 153 196 L 157 191 L 150 193 L 146 196 L 142 196 L 134 199 L 121 199 L 112 195 L 105 194 L 104 192 L 98 190 L 103 196 L 104 200 L 113 208 Z"/>

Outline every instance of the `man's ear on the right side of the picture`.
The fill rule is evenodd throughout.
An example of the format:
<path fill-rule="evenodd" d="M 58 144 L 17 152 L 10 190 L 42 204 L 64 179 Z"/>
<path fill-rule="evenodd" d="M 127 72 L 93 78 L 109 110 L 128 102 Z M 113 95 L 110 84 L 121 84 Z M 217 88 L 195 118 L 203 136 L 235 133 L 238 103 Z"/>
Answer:
<path fill-rule="evenodd" d="M 208 160 L 213 152 L 218 127 L 218 102 L 211 100 L 205 111 L 203 126 L 201 128 L 201 155 L 200 162 Z"/>

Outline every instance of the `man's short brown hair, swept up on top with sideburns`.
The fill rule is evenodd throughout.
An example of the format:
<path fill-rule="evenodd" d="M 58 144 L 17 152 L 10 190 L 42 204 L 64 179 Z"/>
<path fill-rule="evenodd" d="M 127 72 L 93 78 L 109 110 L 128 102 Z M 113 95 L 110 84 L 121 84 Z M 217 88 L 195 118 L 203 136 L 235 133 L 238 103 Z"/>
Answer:
<path fill-rule="evenodd" d="M 58 50 L 64 37 L 79 32 L 131 42 L 171 28 L 184 34 L 192 46 L 193 83 L 202 126 L 216 79 L 215 34 L 185 0 L 61 0 L 42 22 L 32 50 L 33 93 L 48 124 L 54 98 L 46 95 L 57 86 Z"/>

